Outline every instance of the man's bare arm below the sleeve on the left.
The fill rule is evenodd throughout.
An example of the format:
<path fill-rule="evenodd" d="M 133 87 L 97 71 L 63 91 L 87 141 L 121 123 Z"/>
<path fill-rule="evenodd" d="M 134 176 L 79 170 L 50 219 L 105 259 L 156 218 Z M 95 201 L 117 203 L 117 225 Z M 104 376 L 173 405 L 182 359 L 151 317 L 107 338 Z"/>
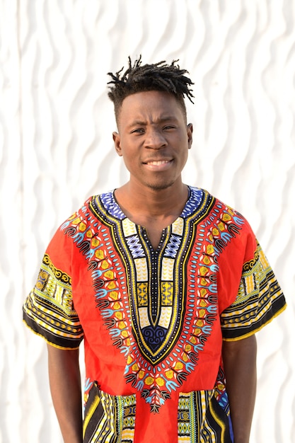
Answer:
<path fill-rule="evenodd" d="M 79 350 L 47 345 L 50 391 L 64 443 L 82 443 Z"/>

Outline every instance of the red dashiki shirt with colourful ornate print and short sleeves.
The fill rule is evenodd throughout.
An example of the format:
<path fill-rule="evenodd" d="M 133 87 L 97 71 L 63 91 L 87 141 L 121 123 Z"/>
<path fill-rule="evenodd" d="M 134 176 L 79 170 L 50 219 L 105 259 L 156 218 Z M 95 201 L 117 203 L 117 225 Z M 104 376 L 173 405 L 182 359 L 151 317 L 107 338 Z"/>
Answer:
<path fill-rule="evenodd" d="M 284 307 L 248 222 L 207 191 L 189 188 L 156 250 L 108 192 L 57 230 L 24 320 L 59 348 L 84 340 L 83 442 L 231 443 L 222 340 Z"/>

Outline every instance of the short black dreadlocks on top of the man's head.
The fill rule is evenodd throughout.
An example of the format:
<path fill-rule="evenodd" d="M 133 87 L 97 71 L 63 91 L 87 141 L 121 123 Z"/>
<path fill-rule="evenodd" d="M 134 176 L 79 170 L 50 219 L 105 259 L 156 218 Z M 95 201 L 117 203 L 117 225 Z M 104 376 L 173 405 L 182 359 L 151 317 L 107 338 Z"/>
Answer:
<path fill-rule="evenodd" d="M 131 94 L 144 91 L 166 91 L 173 93 L 176 100 L 180 104 L 186 118 L 186 108 L 184 97 L 187 96 L 192 101 L 192 81 L 184 76 L 188 74 L 185 69 L 180 69 L 178 60 L 173 60 L 169 65 L 165 61 L 155 64 L 141 65 L 141 55 L 139 59 L 135 60 L 133 66 L 129 57 L 129 67 L 122 73 L 124 67 L 120 69 L 115 75 L 108 72 L 112 80 L 108 84 L 110 92 L 108 96 L 114 103 L 116 120 L 120 113 L 122 101 Z"/>

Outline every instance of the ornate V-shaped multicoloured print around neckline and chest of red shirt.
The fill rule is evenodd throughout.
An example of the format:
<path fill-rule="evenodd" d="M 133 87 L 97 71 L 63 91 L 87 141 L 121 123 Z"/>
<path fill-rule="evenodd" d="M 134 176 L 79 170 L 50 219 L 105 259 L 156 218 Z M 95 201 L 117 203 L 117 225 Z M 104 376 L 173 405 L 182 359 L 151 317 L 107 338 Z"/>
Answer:
<path fill-rule="evenodd" d="M 218 257 L 238 227 L 211 195 L 191 190 L 154 251 L 145 229 L 125 217 L 112 194 L 94 197 L 89 209 L 85 217 L 100 241 L 86 229 L 77 246 L 88 259 L 97 308 L 125 355 L 127 383 L 156 413 L 194 371 L 212 333 Z"/>

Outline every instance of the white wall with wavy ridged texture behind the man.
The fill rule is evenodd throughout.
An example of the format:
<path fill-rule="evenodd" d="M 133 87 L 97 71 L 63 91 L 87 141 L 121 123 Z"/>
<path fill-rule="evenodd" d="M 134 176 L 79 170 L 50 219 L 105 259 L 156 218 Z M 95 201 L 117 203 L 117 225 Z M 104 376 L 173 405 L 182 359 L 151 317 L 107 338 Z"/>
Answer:
<path fill-rule="evenodd" d="M 190 71 L 185 181 L 248 218 L 286 293 L 258 334 L 251 442 L 294 442 L 293 0 L 0 0 L 0 442 L 62 442 L 21 306 L 57 226 L 127 179 L 106 73 L 140 53 Z"/>

